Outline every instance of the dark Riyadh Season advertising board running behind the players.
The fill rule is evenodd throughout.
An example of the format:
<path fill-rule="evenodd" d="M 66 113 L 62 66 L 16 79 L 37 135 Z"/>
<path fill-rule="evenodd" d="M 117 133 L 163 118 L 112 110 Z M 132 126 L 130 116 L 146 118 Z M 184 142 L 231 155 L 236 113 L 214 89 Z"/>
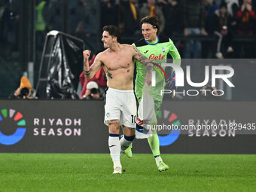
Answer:
<path fill-rule="evenodd" d="M 0 152 L 108 153 L 104 103 L 1 100 Z M 255 102 L 163 102 L 157 131 L 163 153 L 256 154 Z M 150 153 L 145 139 L 133 152 Z"/>

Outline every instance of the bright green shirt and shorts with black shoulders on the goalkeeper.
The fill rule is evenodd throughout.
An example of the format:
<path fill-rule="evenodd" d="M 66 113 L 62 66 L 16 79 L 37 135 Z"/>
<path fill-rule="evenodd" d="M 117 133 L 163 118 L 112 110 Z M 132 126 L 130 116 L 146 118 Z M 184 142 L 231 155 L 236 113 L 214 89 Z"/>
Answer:
<path fill-rule="evenodd" d="M 180 59 L 181 56 L 178 53 L 177 48 L 173 44 L 172 40 L 169 38 L 159 38 L 157 37 L 157 40 L 154 42 L 149 43 L 144 38 L 136 41 L 133 46 L 137 47 L 137 49 L 148 59 L 150 59 L 152 62 L 157 63 L 161 66 L 161 63 L 166 63 L 167 60 L 167 54 L 169 53 L 172 56 L 172 59 L 178 59 L 178 62 L 175 62 L 177 65 L 181 65 Z M 162 67 L 163 70 L 165 67 Z M 154 102 L 157 105 L 163 100 L 163 96 L 160 95 L 160 91 L 164 89 L 166 83 L 165 83 L 165 76 L 161 69 L 154 67 L 153 69 L 156 71 L 156 86 L 151 86 L 151 95 L 153 96 Z M 137 98 L 142 99 L 142 93 L 143 93 L 143 86 L 145 82 L 145 76 L 146 76 L 146 67 L 143 66 L 143 64 L 136 60 L 136 84 L 135 84 L 135 93 Z"/>

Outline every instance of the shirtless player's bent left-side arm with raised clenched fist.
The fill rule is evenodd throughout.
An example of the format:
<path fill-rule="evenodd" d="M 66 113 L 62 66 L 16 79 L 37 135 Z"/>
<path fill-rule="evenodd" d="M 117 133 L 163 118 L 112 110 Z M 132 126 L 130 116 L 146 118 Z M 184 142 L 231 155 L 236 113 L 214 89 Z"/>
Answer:
<path fill-rule="evenodd" d="M 89 66 L 89 57 L 90 50 L 84 50 L 84 76 L 87 79 L 93 78 L 96 75 L 96 72 L 99 71 L 100 66 L 102 66 L 102 62 L 100 60 L 100 53 L 95 57 L 93 65 Z"/>

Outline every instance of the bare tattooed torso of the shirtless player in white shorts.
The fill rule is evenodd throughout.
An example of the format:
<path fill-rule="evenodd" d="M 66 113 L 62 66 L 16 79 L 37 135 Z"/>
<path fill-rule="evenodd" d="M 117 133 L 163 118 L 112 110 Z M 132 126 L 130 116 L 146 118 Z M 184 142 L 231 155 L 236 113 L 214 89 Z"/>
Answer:
<path fill-rule="evenodd" d="M 120 49 L 107 49 L 100 53 L 100 61 L 108 78 L 108 87 L 117 90 L 133 90 L 134 50 L 131 45 L 120 44 Z"/>

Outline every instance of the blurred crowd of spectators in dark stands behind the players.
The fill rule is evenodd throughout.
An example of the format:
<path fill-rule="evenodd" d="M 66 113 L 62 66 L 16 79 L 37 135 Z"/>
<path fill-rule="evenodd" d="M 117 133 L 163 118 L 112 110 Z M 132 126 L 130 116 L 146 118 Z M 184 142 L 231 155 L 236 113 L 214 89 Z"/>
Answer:
<path fill-rule="evenodd" d="M 64 2 L 69 2 L 68 14 Z M 102 26 L 120 26 L 124 37 L 136 37 L 140 35 L 142 17 L 155 15 L 160 19 L 161 35 L 191 37 L 190 41 L 176 44 L 183 58 L 209 57 L 201 55 L 201 41 L 194 38 L 197 35 L 214 37 L 216 51 L 212 58 L 224 58 L 234 50 L 234 35 L 255 36 L 255 10 L 256 0 L 37 0 L 36 47 L 41 50 L 45 35 L 54 29 L 82 38 L 90 49 L 95 49 Z M 65 29 L 63 18 L 66 14 L 69 21 Z M 18 0 L 0 1 L 0 41 L 7 44 L 5 53 L 17 50 L 19 17 Z M 239 49 L 245 52 L 243 57 L 252 56 L 246 55 L 246 44 Z"/>

